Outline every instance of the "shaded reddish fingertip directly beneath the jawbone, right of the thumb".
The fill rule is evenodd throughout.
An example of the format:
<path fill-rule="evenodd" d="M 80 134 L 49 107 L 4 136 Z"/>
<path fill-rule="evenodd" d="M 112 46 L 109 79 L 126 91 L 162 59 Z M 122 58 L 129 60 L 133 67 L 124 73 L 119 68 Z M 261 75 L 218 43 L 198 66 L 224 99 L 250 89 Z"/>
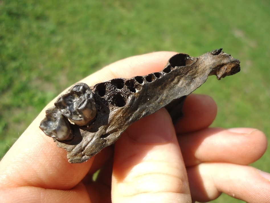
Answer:
<path fill-rule="evenodd" d="M 207 95 L 191 94 L 183 105 L 184 117 L 175 124 L 176 134 L 193 132 L 208 127 L 216 117 L 215 101 Z"/>

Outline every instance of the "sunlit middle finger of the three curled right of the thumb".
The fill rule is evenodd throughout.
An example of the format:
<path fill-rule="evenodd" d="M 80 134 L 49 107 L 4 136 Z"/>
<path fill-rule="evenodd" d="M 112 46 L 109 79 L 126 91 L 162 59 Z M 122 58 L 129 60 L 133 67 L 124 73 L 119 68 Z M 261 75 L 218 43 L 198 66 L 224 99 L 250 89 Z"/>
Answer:
<path fill-rule="evenodd" d="M 253 128 L 206 128 L 178 136 L 186 166 L 201 162 L 251 164 L 267 148 L 263 132 Z"/>

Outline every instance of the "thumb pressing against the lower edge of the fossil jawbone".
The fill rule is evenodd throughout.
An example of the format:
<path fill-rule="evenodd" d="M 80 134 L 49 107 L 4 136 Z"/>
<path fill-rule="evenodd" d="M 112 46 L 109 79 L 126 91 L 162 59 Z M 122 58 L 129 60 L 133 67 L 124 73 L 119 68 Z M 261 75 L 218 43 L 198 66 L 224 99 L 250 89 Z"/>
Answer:
<path fill-rule="evenodd" d="M 168 112 L 132 124 L 115 143 L 112 202 L 191 202 L 185 164 Z"/>

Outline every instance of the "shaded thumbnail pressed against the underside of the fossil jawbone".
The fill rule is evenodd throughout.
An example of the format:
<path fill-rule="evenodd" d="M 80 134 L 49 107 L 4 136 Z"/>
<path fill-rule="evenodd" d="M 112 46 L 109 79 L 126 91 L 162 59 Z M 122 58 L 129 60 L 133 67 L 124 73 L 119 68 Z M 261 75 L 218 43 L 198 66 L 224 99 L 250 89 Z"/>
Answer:
<path fill-rule="evenodd" d="M 132 124 L 127 134 L 131 140 L 145 143 L 162 143 L 172 140 L 174 134 L 171 118 L 165 109 Z"/>

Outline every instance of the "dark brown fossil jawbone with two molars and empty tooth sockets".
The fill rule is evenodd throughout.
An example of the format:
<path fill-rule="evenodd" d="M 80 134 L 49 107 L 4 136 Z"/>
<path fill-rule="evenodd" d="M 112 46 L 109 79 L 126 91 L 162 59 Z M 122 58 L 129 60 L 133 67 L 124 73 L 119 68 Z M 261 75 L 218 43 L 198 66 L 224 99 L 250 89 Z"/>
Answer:
<path fill-rule="evenodd" d="M 176 54 L 162 71 L 145 76 L 116 78 L 93 87 L 77 83 L 46 110 L 40 128 L 67 151 L 69 162 L 81 163 L 113 144 L 132 123 L 164 106 L 176 122 L 185 97 L 208 75 L 220 80 L 238 73 L 239 64 L 216 49 L 200 57 Z"/>

